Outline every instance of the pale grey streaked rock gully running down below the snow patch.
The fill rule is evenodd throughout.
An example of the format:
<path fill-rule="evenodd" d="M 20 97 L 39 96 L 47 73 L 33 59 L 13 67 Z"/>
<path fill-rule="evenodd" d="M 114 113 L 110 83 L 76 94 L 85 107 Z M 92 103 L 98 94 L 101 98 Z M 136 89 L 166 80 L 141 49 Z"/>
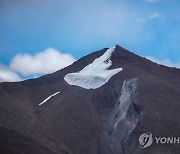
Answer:
<path fill-rule="evenodd" d="M 105 123 L 101 140 L 101 153 L 125 153 L 122 144 L 136 128 L 140 121 L 140 110 L 134 103 L 137 79 L 124 81 L 121 95 L 112 113 Z"/>

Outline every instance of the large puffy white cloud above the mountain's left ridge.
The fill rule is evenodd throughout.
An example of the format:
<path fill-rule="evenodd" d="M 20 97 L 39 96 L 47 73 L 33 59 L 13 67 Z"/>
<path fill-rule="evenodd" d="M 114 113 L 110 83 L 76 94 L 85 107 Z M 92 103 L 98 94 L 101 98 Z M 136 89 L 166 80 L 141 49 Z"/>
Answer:
<path fill-rule="evenodd" d="M 18 54 L 10 63 L 10 68 L 21 75 L 47 74 L 60 70 L 75 61 L 70 54 L 60 53 L 54 48 L 48 48 L 35 55 Z"/>

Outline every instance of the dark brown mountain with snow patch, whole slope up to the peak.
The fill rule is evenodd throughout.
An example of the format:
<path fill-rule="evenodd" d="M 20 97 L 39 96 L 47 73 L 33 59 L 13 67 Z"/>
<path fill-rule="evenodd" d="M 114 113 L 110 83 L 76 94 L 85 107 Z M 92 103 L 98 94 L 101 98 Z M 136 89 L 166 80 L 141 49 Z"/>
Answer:
<path fill-rule="evenodd" d="M 178 143 L 153 138 L 142 148 L 139 136 L 180 136 L 179 89 L 179 69 L 120 46 L 37 79 L 1 83 L 0 153 L 178 154 Z"/>

